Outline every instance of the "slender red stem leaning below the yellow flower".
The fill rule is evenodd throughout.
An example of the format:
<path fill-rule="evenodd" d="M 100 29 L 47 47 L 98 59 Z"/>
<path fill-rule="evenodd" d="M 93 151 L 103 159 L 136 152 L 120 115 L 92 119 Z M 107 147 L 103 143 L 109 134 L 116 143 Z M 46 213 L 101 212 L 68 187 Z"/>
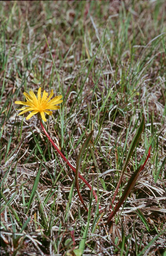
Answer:
<path fill-rule="evenodd" d="M 52 146 L 58 151 L 58 153 L 61 155 L 61 157 L 63 158 L 63 160 L 66 162 L 66 164 L 69 165 L 70 168 L 73 170 L 73 172 L 76 173 L 76 169 L 74 168 L 74 166 L 70 164 L 70 162 L 69 162 L 69 161 L 66 159 L 66 157 L 61 153 L 61 151 L 59 150 L 59 148 L 56 146 L 56 144 L 53 142 L 53 140 L 51 139 L 51 137 L 48 135 L 47 131 L 45 130 L 45 128 L 44 128 L 44 126 L 43 126 L 43 124 L 42 124 L 42 120 L 40 120 L 40 124 L 41 124 L 42 129 L 44 130 L 45 135 L 47 136 L 47 138 L 49 139 L 49 141 L 52 143 Z M 98 201 L 98 200 L 97 200 L 97 195 L 96 195 L 95 191 L 92 190 L 91 185 L 84 179 L 84 177 L 83 177 L 81 174 L 79 174 L 79 178 L 88 186 L 88 188 L 90 189 L 90 191 L 93 192 L 93 195 L 94 195 L 94 197 L 95 197 L 95 199 L 96 199 L 96 202 L 97 202 L 97 201 Z M 82 199 L 82 198 L 81 198 L 81 199 Z M 80 200 L 81 200 L 81 199 L 80 199 Z M 82 202 L 82 200 L 81 200 L 81 202 Z M 84 203 L 83 203 L 83 205 L 84 205 L 84 207 L 85 207 L 85 204 L 84 204 Z M 99 209 L 101 209 L 100 204 L 99 204 Z M 88 211 L 87 207 L 85 207 L 85 210 Z M 100 210 L 100 212 L 101 212 L 101 210 Z"/>

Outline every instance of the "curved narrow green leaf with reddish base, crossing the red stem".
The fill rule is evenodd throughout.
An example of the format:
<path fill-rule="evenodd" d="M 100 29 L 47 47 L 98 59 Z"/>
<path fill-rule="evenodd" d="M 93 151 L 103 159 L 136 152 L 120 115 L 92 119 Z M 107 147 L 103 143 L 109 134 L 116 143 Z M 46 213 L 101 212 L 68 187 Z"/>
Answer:
<path fill-rule="evenodd" d="M 79 167 L 81 165 L 81 161 L 82 161 L 82 157 L 84 155 L 84 152 L 88 146 L 88 143 L 90 142 L 91 138 L 92 138 L 92 135 L 93 135 L 93 130 L 89 133 L 89 135 L 87 136 L 87 139 L 85 140 L 84 144 L 82 145 L 80 151 L 79 151 L 79 155 L 78 155 L 78 160 L 77 160 L 77 165 L 76 165 L 76 188 L 77 188 L 77 192 L 79 194 L 79 199 L 80 201 L 82 202 L 85 210 L 87 210 L 88 212 L 88 209 L 87 209 L 87 206 L 85 205 L 83 199 L 82 199 L 82 196 L 79 192 Z"/>

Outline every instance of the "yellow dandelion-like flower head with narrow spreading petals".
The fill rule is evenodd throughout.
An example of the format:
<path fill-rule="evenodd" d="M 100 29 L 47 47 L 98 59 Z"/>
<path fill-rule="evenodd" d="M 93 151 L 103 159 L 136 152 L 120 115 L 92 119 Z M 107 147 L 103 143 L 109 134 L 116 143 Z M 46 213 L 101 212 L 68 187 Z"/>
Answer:
<path fill-rule="evenodd" d="M 46 121 L 44 112 L 51 116 L 52 115 L 52 111 L 50 110 L 58 110 L 60 109 L 60 106 L 55 106 L 59 103 L 62 102 L 61 98 L 62 96 L 56 96 L 54 97 L 52 100 L 52 96 L 53 96 L 53 90 L 51 91 L 50 96 L 48 97 L 48 93 L 44 91 L 43 96 L 41 97 L 41 87 L 39 88 L 38 92 L 37 92 L 37 97 L 35 96 L 35 93 L 30 90 L 29 94 L 24 92 L 24 95 L 26 96 L 26 102 L 24 101 L 15 101 L 15 104 L 20 104 L 20 105 L 26 105 L 28 107 L 24 107 L 20 110 L 23 110 L 21 113 L 18 114 L 22 115 L 24 113 L 26 113 L 27 111 L 32 111 L 26 118 L 26 120 L 30 119 L 33 115 L 40 113 L 42 119 L 44 120 L 44 122 Z"/>

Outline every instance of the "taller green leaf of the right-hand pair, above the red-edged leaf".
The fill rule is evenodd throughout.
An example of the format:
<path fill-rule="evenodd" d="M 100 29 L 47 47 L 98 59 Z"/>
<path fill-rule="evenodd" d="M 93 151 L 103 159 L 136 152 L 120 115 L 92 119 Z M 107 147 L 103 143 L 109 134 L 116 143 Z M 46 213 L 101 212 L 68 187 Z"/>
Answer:
<path fill-rule="evenodd" d="M 129 163 L 131 155 L 132 155 L 132 153 L 133 153 L 133 151 L 134 151 L 134 149 L 135 149 L 135 147 L 136 147 L 136 145 L 137 145 L 137 143 L 138 143 L 138 141 L 140 139 L 140 135 L 141 135 L 141 133 L 142 133 L 142 131 L 144 129 L 144 125 L 145 125 L 145 117 L 143 116 L 143 118 L 142 118 L 142 120 L 140 122 L 140 126 L 137 129 L 136 134 L 135 134 L 135 136 L 134 136 L 134 138 L 133 138 L 133 140 L 131 142 L 131 146 L 129 148 L 129 152 L 128 152 L 127 156 L 126 156 L 126 161 L 125 161 L 125 163 L 123 165 L 122 174 L 121 174 L 120 179 L 118 181 L 118 184 L 117 184 L 117 187 L 116 187 L 116 190 L 115 190 L 115 193 L 114 193 L 114 197 L 113 197 L 112 203 L 114 203 L 115 197 L 116 197 L 116 195 L 118 193 L 118 189 L 119 189 L 121 181 L 122 181 L 123 174 L 124 174 L 124 172 L 126 170 L 126 167 L 127 167 L 128 163 Z"/>

